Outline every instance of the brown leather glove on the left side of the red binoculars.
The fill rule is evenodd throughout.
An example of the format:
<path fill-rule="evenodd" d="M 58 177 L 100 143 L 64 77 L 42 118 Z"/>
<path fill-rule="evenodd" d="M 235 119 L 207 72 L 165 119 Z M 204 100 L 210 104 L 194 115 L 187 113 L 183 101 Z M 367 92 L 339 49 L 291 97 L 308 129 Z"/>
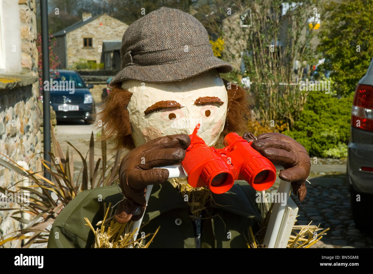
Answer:
<path fill-rule="evenodd" d="M 119 183 L 127 199 L 119 203 L 115 220 L 121 224 L 137 221 L 144 214 L 146 186 L 167 181 L 169 172 L 160 166 L 180 163 L 190 144 L 186 134 L 156 138 L 132 149 L 123 157 L 119 168 Z"/>

